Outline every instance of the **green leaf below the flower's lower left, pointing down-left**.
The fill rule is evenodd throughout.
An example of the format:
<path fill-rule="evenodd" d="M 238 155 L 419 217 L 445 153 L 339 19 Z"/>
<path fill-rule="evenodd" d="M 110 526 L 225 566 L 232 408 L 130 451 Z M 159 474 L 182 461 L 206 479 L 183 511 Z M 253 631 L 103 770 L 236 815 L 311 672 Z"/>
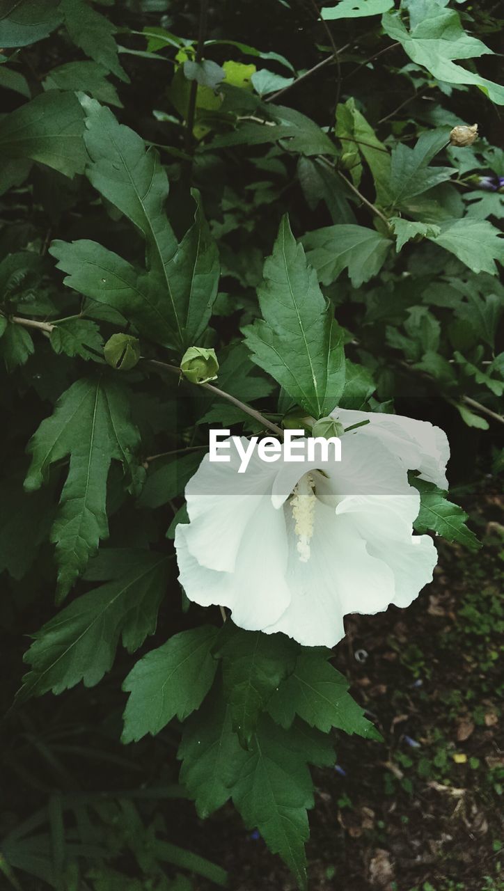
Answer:
<path fill-rule="evenodd" d="M 174 634 L 150 650 L 127 675 L 122 689 L 130 693 L 124 713 L 125 743 L 155 736 L 175 715 L 185 721 L 207 696 L 217 662 L 211 648 L 217 629 L 200 625 Z"/>

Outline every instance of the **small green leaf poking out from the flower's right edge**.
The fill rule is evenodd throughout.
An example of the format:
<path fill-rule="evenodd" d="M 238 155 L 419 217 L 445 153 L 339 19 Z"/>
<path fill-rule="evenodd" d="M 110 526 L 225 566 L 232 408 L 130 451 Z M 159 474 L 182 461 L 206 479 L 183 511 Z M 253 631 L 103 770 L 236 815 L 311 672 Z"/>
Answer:
<path fill-rule="evenodd" d="M 446 492 L 419 477 L 411 477 L 410 482 L 420 493 L 419 516 L 413 523 L 417 532 L 432 529 L 437 535 L 443 535 L 448 542 L 463 544 L 470 551 L 477 551 L 481 547 L 474 532 L 466 526 L 466 511 L 462 511 L 458 504 L 447 501 Z"/>

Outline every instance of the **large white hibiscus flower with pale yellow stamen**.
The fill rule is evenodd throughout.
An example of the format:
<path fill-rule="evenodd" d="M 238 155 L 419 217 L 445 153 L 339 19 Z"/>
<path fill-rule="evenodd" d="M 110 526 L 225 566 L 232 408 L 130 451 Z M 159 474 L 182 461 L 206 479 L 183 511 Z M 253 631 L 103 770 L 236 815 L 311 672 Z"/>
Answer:
<path fill-rule="evenodd" d="M 413 535 L 419 493 L 408 470 L 445 486 L 443 431 L 398 415 L 336 410 L 341 462 L 264 463 L 239 474 L 205 456 L 186 486 L 189 524 L 175 548 L 191 601 L 221 604 L 236 625 L 334 646 L 347 613 L 406 607 L 432 579 L 428 535 Z M 247 440 L 243 440 L 246 446 Z"/>

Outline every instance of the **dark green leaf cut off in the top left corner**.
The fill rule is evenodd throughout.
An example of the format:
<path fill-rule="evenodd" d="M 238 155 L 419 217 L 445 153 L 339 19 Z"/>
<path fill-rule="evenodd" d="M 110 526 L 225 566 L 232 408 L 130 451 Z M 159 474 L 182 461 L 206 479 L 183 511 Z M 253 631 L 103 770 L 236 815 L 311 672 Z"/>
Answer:
<path fill-rule="evenodd" d="M 60 0 L 4 0 L 0 46 L 28 46 L 44 40 L 61 22 Z"/>

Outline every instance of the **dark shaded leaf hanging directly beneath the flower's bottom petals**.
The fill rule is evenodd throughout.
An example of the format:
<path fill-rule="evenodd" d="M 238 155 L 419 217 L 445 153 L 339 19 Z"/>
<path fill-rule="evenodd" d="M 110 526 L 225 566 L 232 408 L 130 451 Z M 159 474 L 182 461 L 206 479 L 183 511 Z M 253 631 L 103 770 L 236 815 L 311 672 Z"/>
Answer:
<path fill-rule="evenodd" d="M 225 631 L 224 645 L 215 650 L 223 660 L 224 699 L 231 707 L 233 731 L 249 748 L 268 700 L 294 670 L 299 647 L 284 634 L 243 631 L 229 621 Z"/>

